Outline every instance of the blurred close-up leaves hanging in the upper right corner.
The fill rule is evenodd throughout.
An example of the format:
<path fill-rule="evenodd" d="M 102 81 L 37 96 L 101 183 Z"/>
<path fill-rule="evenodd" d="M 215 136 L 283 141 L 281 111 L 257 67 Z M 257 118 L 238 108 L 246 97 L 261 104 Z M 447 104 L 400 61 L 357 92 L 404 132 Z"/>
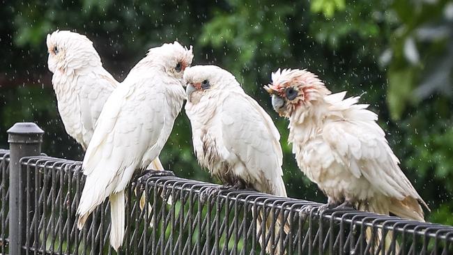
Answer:
<path fill-rule="evenodd" d="M 387 102 L 398 120 L 433 93 L 452 95 L 453 3 L 402 0 L 392 7 L 400 23 L 390 43 Z"/>

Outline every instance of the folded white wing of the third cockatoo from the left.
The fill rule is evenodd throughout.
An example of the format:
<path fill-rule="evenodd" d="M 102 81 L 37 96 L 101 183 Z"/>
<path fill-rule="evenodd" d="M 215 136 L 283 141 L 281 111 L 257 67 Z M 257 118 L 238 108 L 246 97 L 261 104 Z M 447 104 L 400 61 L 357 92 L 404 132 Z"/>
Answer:
<path fill-rule="evenodd" d="M 245 164 L 254 182 L 263 185 L 266 190 L 261 192 L 286 196 L 280 137 L 270 116 L 252 98 L 237 91 L 229 92 L 220 114 L 227 150 Z"/>

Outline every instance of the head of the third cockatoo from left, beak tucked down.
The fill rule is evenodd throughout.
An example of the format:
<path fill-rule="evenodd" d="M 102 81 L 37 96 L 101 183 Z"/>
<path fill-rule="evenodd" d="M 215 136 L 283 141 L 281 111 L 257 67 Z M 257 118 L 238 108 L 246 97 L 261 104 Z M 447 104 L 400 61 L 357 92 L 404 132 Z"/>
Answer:
<path fill-rule="evenodd" d="M 184 72 L 184 83 L 187 85 L 185 91 L 189 102 L 194 102 L 192 99 L 199 99 L 206 93 L 240 88 L 236 78 L 217 65 L 195 65 L 187 68 Z"/>

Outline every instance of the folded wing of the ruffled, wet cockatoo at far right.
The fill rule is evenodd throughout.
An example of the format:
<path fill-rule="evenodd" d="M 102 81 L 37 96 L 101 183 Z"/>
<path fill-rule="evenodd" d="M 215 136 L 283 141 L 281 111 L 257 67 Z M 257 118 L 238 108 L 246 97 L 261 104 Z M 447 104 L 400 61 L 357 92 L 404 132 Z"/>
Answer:
<path fill-rule="evenodd" d="M 368 114 L 368 119 L 376 118 L 371 111 L 356 110 Z M 399 160 L 387 144 L 385 133 L 374 121 L 332 121 L 323 127 L 322 133 L 335 160 L 341 161 L 355 177 L 364 176 L 385 196 L 399 201 L 410 196 L 424 203 L 399 168 Z"/>

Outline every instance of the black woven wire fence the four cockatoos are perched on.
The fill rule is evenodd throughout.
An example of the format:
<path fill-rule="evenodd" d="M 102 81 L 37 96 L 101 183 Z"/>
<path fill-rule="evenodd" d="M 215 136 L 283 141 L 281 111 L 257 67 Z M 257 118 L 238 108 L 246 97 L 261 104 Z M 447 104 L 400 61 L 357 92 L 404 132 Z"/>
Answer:
<path fill-rule="evenodd" d="M 19 160 L 13 150 L 20 148 L 0 150 L 1 254 L 115 254 L 108 203 L 77 229 L 80 162 L 39 150 Z M 17 169 L 20 175 L 13 174 Z M 13 176 L 22 184 L 10 197 Z M 265 254 L 260 241 L 272 245 L 271 253 L 283 247 L 280 254 L 453 254 L 452 226 L 346 209 L 320 214 L 319 203 L 245 190 L 208 196 L 210 187 L 215 185 L 174 176 L 134 178 L 126 192 L 121 254 Z M 142 194 L 148 203 L 143 210 L 137 199 Z M 259 213 L 268 219 L 267 231 L 260 231 Z M 289 229 L 277 227 L 276 219 Z"/>

